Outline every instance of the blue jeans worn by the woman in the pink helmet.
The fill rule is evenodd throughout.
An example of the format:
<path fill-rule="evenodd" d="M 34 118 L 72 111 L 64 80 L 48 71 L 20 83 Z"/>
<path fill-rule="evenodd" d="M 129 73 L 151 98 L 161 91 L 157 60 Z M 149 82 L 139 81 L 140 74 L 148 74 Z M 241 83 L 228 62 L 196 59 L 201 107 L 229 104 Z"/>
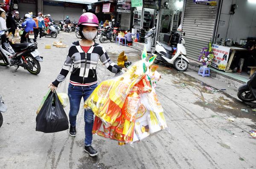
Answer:
<path fill-rule="evenodd" d="M 74 86 L 72 84 L 68 85 L 68 97 L 70 100 L 70 112 L 69 120 L 70 126 L 76 126 L 76 115 L 79 112 L 79 107 L 82 97 L 84 101 L 90 96 L 93 90 L 97 87 L 97 84 L 91 86 Z M 93 112 L 88 109 L 84 109 L 84 132 L 85 139 L 84 145 L 90 146 L 93 140 Z"/>

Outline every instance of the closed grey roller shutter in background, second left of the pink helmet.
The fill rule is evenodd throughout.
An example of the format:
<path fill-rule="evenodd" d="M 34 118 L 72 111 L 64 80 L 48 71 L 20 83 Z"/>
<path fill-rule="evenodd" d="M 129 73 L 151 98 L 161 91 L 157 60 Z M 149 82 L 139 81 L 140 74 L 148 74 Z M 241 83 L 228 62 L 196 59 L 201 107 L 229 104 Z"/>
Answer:
<path fill-rule="evenodd" d="M 57 23 L 60 20 L 64 20 L 64 7 L 44 5 L 45 14 L 50 14 L 52 19 L 55 20 L 55 23 Z"/>

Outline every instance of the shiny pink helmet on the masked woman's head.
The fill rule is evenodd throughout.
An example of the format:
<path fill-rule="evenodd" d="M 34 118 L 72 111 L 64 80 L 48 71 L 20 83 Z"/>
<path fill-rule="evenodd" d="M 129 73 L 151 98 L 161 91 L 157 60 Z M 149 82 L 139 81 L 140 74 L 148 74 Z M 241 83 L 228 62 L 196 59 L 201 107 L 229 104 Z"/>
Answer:
<path fill-rule="evenodd" d="M 86 12 L 80 16 L 78 25 L 99 26 L 99 20 L 95 14 Z"/>

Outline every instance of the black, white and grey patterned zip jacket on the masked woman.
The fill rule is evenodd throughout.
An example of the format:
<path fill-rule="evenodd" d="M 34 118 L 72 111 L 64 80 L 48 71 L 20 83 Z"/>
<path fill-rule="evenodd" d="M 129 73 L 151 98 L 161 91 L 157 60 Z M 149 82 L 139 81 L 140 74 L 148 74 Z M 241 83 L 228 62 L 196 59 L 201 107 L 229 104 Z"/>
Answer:
<path fill-rule="evenodd" d="M 96 84 L 96 67 L 99 59 L 103 65 L 113 73 L 118 73 L 122 69 L 111 61 L 105 49 L 99 44 L 95 43 L 90 47 L 88 52 L 85 53 L 79 45 L 79 41 L 73 42 L 68 51 L 67 59 L 61 69 L 61 73 L 52 84 L 58 87 L 58 84 L 66 78 L 71 67 L 70 82 L 72 82 L 72 84 L 82 86 Z"/>

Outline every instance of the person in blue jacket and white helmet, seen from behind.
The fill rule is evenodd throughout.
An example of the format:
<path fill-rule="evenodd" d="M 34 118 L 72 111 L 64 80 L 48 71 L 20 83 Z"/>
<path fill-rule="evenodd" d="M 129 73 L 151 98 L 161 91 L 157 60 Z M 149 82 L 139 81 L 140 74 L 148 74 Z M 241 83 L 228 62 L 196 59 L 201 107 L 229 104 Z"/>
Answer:
<path fill-rule="evenodd" d="M 24 26 L 26 27 L 24 28 L 23 34 L 20 37 L 20 43 L 26 42 L 25 35 L 29 31 L 34 31 L 34 27 L 36 27 L 35 20 L 32 19 L 30 14 L 25 14 L 25 19 L 26 20 L 21 25 L 21 28 L 24 28 Z M 34 39 L 34 42 L 35 42 L 35 39 Z"/>

